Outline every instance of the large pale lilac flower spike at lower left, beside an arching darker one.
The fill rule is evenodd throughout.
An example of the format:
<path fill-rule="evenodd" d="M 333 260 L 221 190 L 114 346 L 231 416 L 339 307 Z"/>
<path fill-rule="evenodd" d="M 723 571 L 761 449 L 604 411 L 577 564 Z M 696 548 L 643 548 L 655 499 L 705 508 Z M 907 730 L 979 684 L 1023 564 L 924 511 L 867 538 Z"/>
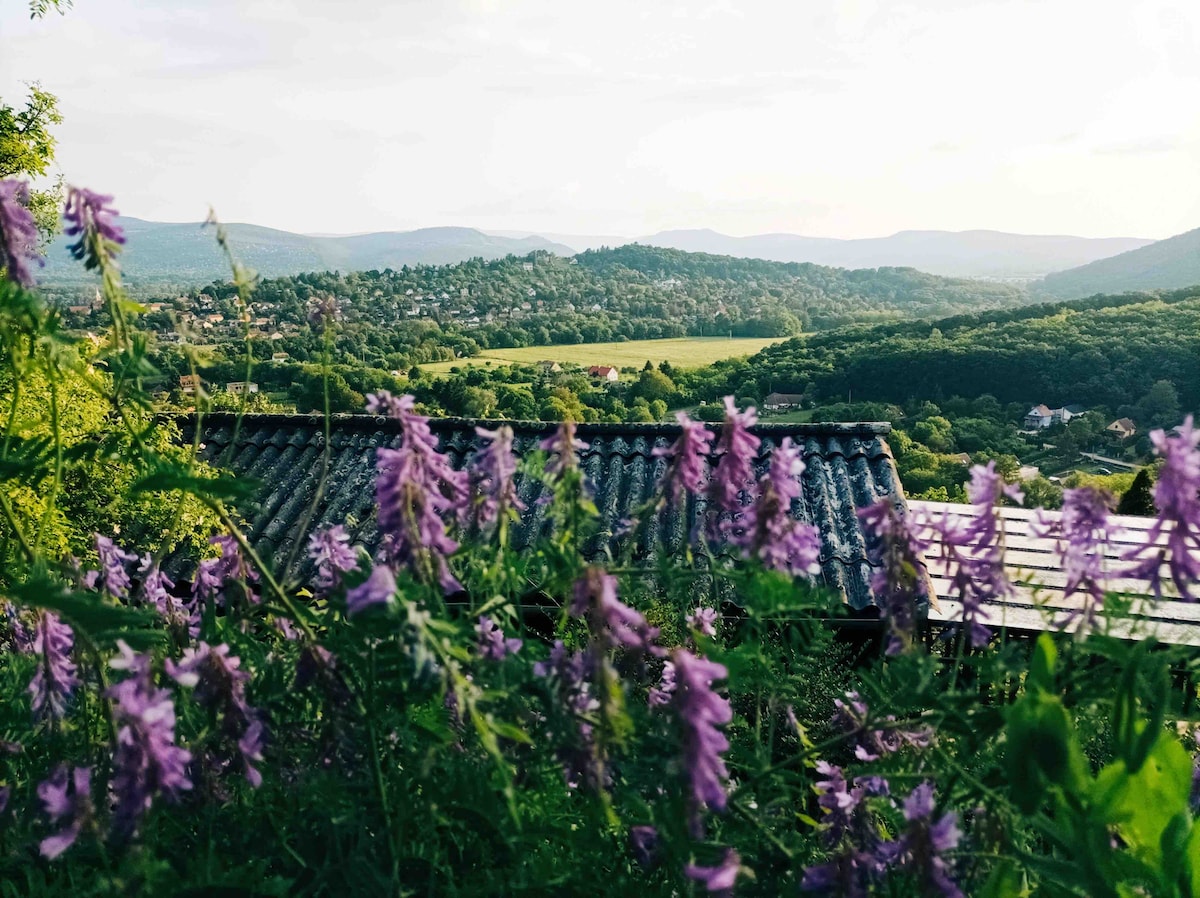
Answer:
<path fill-rule="evenodd" d="M 113 755 L 113 828 L 122 838 L 137 830 L 156 795 L 176 800 L 192 788 L 187 764 L 192 755 L 175 744 L 175 702 L 170 693 L 154 686 L 150 655 L 138 655 L 118 641 L 119 659 L 109 661 L 131 676 L 112 686 L 118 726 Z"/>

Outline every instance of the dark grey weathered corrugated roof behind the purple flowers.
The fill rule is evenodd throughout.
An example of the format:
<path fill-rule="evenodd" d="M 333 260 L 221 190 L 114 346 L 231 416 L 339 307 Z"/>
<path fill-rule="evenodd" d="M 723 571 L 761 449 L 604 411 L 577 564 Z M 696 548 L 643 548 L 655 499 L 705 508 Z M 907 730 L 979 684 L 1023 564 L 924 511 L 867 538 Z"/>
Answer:
<path fill-rule="evenodd" d="M 296 539 L 308 504 L 317 489 L 322 467 L 324 420 L 319 415 L 246 415 L 236 432 L 236 415 L 205 415 L 200 435 L 202 456 L 232 469 L 239 477 L 260 481 L 257 508 L 247 510 L 248 538 L 275 564 L 282 565 Z M 181 421 L 191 439 L 196 421 Z M 497 421 L 463 418 L 433 419 L 440 449 L 456 466 L 462 466 L 478 448 L 476 425 L 494 427 Z M 536 448 L 556 424 L 504 421 L 512 427 L 518 455 Z M 769 451 L 784 437 L 803 445 L 806 469 L 803 496 L 793 513 L 821 532 L 820 580 L 841 593 L 856 610 L 874 604 L 870 563 L 856 509 L 889 497 L 905 508 L 892 451 L 884 439 L 887 424 L 764 424 L 754 429 L 762 438 L 760 472 L 767 467 Z M 329 523 L 346 523 L 354 541 L 373 550 L 378 539 L 374 525 L 374 450 L 395 447 L 398 425 L 388 418 L 337 415 L 331 423 L 329 478 L 317 505 L 310 531 Z M 595 493 L 601 515 L 601 533 L 608 538 L 620 531 L 631 511 L 654 492 L 666 469 L 666 461 L 654 457 L 655 448 L 667 447 L 679 433 L 667 424 L 581 424 L 578 438 L 588 443 L 581 466 Z M 545 507 L 538 503 L 541 484 L 527 480 L 518 485 L 526 503 L 522 525 L 512 534 L 516 545 L 528 545 L 541 532 Z M 704 513 L 702 498 L 689 497 L 683 511 L 668 509 L 653 521 L 643 556 L 655 550 L 653 534 L 670 552 L 680 551 L 694 523 Z M 589 547 L 599 556 L 606 546 Z"/>

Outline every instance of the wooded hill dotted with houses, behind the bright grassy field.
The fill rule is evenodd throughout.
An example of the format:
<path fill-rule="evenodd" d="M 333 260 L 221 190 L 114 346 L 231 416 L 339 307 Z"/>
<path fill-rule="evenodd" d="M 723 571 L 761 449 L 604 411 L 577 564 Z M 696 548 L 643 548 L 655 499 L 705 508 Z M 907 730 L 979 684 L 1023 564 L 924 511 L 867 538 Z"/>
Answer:
<path fill-rule="evenodd" d="M 384 370 L 474 355 L 481 349 L 682 336 L 791 336 L 864 322 L 937 318 L 1015 307 L 1019 288 L 913 269 L 848 271 L 648 246 L 455 265 L 263 280 L 250 317 L 259 358 L 323 351 L 308 305 L 338 300 L 335 359 Z M 193 342 L 241 342 L 236 288 L 220 282 L 155 298 L 146 323 L 162 335 L 191 318 L 223 317 Z M 146 300 L 150 301 L 150 300 Z M 103 312 L 73 306 L 72 323 L 101 327 Z M 240 349 L 238 351 L 240 352 Z"/>

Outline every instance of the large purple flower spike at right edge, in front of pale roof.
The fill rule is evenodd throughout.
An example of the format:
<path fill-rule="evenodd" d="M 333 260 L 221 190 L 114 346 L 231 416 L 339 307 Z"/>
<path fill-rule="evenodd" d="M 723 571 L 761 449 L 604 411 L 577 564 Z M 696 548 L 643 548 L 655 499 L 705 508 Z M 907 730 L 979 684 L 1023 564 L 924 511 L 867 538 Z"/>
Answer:
<path fill-rule="evenodd" d="M 1164 460 L 1154 484 L 1158 515 L 1145 544 L 1124 557 L 1138 562 L 1128 575 L 1147 580 L 1156 595 L 1163 591 L 1160 569 L 1165 562 L 1175 588 L 1192 601 L 1192 586 L 1200 579 L 1200 430 L 1193 426 L 1192 415 L 1177 430 L 1174 437 L 1162 430 L 1151 431 L 1154 454 Z M 1163 534 L 1166 544 L 1160 546 Z"/>

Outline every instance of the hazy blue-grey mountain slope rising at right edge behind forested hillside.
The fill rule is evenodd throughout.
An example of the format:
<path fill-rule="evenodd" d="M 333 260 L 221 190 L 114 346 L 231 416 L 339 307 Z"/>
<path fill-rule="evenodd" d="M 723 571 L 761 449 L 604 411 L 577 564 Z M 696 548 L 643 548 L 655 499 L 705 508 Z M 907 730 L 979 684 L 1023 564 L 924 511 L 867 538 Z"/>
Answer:
<path fill-rule="evenodd" d="M 1177 289 L 1198 283 L 1200 228 L 1069 271 L 1046 275 L 1033 289 L 1061 299 L 1076 299 L 1096 293 Z"/>

